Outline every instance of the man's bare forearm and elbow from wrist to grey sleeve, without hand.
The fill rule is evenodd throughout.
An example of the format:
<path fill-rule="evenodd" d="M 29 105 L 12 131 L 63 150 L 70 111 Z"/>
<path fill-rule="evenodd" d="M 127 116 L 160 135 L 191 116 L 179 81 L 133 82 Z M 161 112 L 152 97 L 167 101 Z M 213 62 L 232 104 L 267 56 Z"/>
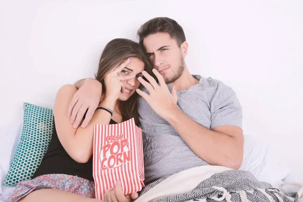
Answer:
<path fill-rule="evenodd" d="M 211 165 L 239 169 L 243 159 L 243 132 L 237 126 L 217 126 L 209 130 L 176 108 L 165 119 L 191 150 Z"/>

